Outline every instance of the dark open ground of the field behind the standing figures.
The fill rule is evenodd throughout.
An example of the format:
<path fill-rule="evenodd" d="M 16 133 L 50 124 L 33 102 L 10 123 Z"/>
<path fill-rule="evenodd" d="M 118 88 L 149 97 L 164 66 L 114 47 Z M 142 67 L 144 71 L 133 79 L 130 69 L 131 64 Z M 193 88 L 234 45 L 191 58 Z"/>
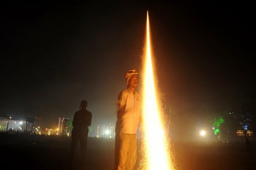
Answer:
<path fill-rule="evenodd" d="M 0 134 L 6 169 L 67 170 L 70 137 Z M 173 142 L 178 170 L 255 170 L 256 142 Z M 79 147 L 79 146 L 78 146 Z M 77 152 L 76 170 L 81 160 Z M 88 139 L 88 170 L 113 170 L 114 139 Z"/>

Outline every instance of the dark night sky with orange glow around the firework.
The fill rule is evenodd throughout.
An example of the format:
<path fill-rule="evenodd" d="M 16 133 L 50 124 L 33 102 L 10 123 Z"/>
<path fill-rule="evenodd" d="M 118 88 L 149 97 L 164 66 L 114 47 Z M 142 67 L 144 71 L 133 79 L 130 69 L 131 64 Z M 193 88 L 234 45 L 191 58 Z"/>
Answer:
<path fill-rule="evenodd" d="M 146 12 L 166 106 L 202 115 L 255 94 L 250 3 L 1 3 L 0 116 L 57 126 L 88 101 L 93 125 L 115 123 L 124 74 L 140 70 Z"/>

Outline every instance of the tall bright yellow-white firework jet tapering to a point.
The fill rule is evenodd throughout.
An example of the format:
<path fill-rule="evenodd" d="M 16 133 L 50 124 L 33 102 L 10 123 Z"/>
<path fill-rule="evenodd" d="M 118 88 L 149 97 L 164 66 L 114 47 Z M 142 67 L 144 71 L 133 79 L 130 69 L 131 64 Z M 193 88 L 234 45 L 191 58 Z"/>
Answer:
<path fill-rule="evenodd" d="M 160 115 L 156 90 L 154 62 L 151 57 L 149 17 L 147 11 L 145 56 L 143 58 L 142 114 L 145 165 L 143 170 L 174 170 L 168 140 Z"/>

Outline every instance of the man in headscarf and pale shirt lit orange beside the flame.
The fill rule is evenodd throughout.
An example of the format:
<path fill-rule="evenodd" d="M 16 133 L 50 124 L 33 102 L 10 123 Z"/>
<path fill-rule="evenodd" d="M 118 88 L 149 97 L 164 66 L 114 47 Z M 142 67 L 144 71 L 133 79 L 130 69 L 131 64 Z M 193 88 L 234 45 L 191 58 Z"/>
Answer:
<path fill-rule="evenodd" d="M 140 95 L 135 91 L 138 86 L 138 72 L 126 72 L 127 88 L 118 95 L 116 122 L 115 170 L 133 170 L 137 158 L 137 129 L 140 122 Z"/>

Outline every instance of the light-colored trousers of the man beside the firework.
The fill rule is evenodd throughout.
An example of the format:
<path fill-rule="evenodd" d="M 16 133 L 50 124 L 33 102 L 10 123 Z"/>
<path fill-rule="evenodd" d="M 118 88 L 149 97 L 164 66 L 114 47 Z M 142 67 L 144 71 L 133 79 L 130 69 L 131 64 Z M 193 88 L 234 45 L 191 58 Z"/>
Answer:
<path fill-rule="evenodd" d="M 137 134 L 119 133 L 117 170 L 134 170 L 137 159 Z"/>

